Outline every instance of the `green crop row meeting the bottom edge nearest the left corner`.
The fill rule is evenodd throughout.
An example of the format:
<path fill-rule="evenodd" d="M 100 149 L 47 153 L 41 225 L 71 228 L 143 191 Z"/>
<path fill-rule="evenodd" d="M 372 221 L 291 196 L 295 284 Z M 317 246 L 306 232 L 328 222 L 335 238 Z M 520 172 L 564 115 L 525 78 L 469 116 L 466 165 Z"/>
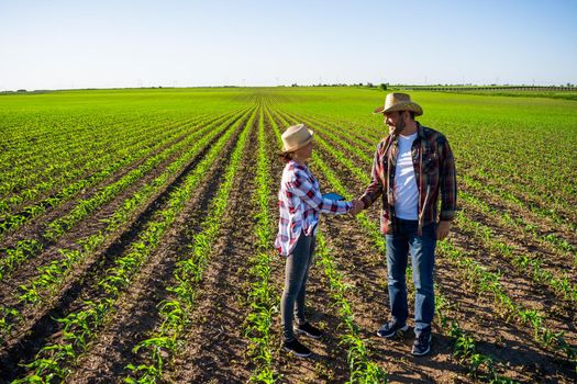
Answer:
<path fill-rule="evenodd" d="M 114 310 L 116 300 L 160 244 L 163 235 L 189 201 L 234 132 L 235 129 L 229 129 L 219 138 L 195 170 L 186 176 L 181 185 L 170 193 L 165 207 L 154 214 L 124 256 L 114 261 L 114 267 L 110 268 L 98 283 L 102 296 L 85 301 L 80 310 L 57 319 L 64 328 L 62 340 L 43 347 L 35 360 L 25 365 L 34 373 L 14 383 L 63 380 L 69 374 L 69 364 L 89 348 L 90 340 Z"/>

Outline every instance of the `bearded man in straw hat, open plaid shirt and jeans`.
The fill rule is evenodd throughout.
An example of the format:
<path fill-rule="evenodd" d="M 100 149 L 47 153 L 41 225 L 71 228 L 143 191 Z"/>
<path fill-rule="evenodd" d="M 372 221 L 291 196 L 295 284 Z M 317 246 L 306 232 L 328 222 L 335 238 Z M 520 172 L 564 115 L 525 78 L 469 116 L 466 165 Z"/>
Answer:
<path fill-rule="evenodd" d="M 408 94 L 387 94 L 385 106 L 375 113 L 385 116 L 389 135 L 377 146 L 371 181 L 359 206 L 368 208 L 382 196 L 381 231 L 387 240 L 391 319 L 377 335 L 392 338 L 408 329 L 406 270 L 410 251 L 415 291 L 412 353 L 424 355 L 431 350 L 435 307 L 435 245 L 448 235 L 456 210 L 455 161 L 445 136 L 414 121 L 423 111 Z"/>

